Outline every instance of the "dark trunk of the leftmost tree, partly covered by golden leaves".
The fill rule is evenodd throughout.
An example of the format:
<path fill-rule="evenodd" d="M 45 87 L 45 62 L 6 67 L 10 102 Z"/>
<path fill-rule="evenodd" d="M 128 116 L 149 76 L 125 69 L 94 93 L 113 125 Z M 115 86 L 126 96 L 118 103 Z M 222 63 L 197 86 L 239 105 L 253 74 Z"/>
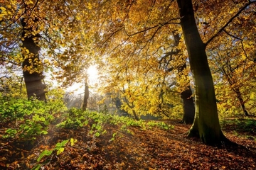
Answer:
<path fill-rule="evenodd" d="M 46 85 L 43 84 L 43 71 L 40 68 L 40 64 L 36 64 L 39 61 L 40 47 L 36 44 L 35 40 L 40 37 L 39 34 L 32 35 L 33 28 L 27 26 L 25 19 L 21 19 L 23 26 L 23 32 L 21 37 L 23 38 L 23 49 L 27 49 L 29 54 L 23 52 L 23 77 L 26 84 L 26 91 L 28 99 L 35 97 L 40 101 L 46 101 Z M 28 35 L 26 35 L 28 33 Z M 31 67 L 31 68 L 30 68 Z M 36 70 L 32 71 L 31 69 Z"/>

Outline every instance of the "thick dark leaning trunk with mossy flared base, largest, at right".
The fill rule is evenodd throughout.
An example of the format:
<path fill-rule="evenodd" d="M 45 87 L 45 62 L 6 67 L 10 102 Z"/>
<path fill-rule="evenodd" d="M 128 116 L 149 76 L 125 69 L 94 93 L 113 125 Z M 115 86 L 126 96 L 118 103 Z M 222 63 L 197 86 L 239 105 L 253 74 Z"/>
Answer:
<path fill-rule="evenodd" d="M 200 137 L 207 145 L 220 144 L 226 138 L 220 129 L 213 78 L 206 56 L 206 45 L 201 40 L 196 27 L 192 1 L 177 1 L 195 83 L 196 115 L 188 136 Z"/>

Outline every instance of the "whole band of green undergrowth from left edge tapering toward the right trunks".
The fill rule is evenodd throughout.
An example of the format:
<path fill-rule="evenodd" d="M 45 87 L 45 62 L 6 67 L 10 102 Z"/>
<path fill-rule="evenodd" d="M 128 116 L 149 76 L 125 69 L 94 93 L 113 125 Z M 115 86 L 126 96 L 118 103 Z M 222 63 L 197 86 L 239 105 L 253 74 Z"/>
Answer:
<path fill-rule="evenodd" d="M 99 137 L 106 132 L 106 125 L 119 125 L 120 130 L 127 131 L 129 127 L 140 130 L 174 128 L 163 122 L 134 120 L 110 113 L 82 111 L 78 108 L 68 110 L 63 101 L 49 100 L 47 103 L 36 99 L 10 98 L 0 96 L 0 121 L 5 134 L 1 137 L 16 141 L 34 141 L 41 135 L 47 135 L 50 128 L 56 126 L 64 129 L 79 129 L 87 127 L 89 135 Z"/>

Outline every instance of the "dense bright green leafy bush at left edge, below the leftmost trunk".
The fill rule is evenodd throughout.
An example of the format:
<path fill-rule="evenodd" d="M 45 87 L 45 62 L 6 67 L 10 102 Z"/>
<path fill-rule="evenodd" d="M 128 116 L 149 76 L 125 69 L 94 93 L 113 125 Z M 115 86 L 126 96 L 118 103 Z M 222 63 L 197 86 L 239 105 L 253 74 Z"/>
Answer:
<path fill-rule="evenodd" d="M 28 101 L 25 98 L 11 98 L 0 96 L 0 120 L 14 122 L 12 128 L 6 130 L 3 136 L 19 137 L 16 140 L 35 140 L 38 135 L 46 135 L 50 123 L 55 120 L 55 115 L 65 110 L 60 101 L 38 101 L 35 98 Z M 56 107 L 60 106 L 60 108 Z M 11 124 L 11 123 L 10 123 Z M 15 128 L 14 125 L 16 126 Z"/>

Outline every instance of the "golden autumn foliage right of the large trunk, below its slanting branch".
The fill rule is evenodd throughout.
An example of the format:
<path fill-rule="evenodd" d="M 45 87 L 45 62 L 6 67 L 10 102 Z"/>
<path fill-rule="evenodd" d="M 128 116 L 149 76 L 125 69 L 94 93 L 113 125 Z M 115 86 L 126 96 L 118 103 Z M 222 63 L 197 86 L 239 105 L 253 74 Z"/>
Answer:
<path fill-rule="evenodd" d="M 229 6 L 233 5 L 232 2 L 229 4 Z M 250 4 L 240 15 L 235 15 L 232 24 L 223 28 L 206 49 L 213 78 L 215 77 L 216 96 L 221 115 L 254 113 L 248 104 L 252 102 L 250 100 L 254 86 L 252 75 L 256 67 L 253 61 L 255 49 L 251 46 L 256 38 L 255 24 L 252 22 L 255 20 L 255 15 L 252 14 L 254 8 L 255 4 Z M 208 27 L 210 25 L 212 24 L 208 23 Z"/>

